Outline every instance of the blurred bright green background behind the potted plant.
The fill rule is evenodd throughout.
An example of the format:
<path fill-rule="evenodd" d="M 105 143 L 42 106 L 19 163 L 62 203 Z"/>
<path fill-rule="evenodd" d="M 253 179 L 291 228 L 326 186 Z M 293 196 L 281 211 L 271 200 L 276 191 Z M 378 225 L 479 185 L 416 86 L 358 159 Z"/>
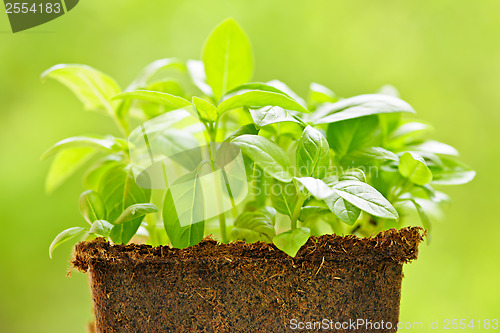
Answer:
<path fill-rule="evenodd" d="M 85 63 L 122 86 L 152 60 L 199 58 L 232 16 L 254 48 L 254 79 L 304 94 L 315 81 L 340 96 L 394 84 L 461 151 L 477 178 L 445 189 L 453 204 L 433 243 L 405 267 L 402 321 L 500 317 L 500 2 L 497 0 L 82 1 L 38 28 L 12 34 L 0 14 L 0 331 L 85 332 L 85 275 L 66 277 L 71 245 L 52 238 L 83 225 L 78 177 L 44 193 L 43 151 L 67 136 L 113 124 L 40 73 Z"/>

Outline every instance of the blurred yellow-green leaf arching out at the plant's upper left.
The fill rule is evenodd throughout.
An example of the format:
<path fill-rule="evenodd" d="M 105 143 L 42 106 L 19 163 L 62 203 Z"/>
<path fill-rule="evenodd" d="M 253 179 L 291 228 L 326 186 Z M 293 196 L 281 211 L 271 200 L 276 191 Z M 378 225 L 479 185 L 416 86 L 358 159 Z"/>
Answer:
<path fill-rule="evenodd" d="M 120 88 L 106 74 L 85 65 L 61 64 L 43 72 L 42 79 L 46 77 L 67 86 L 86 109 L 114 114 L 111 98 L 120 92 Z"/>

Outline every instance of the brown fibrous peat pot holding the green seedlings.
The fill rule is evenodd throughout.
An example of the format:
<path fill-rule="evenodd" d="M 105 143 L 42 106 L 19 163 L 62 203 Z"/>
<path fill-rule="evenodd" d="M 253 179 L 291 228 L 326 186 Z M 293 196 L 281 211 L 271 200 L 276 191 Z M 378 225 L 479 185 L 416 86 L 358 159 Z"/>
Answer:
<path fill-rule="evenodd" d="M 423 236 L 415 227 L 313 237 L 295 258 L 266 243 L 180 250 L 101 238 L 77 244 L 73 265 L 89 272 L 97 332 L 288 332 L 318 321 L 349 324 L 331 332 L 395 332 L 402 265 Z M 382 321 L 393 329 L 370 326 Z"/>

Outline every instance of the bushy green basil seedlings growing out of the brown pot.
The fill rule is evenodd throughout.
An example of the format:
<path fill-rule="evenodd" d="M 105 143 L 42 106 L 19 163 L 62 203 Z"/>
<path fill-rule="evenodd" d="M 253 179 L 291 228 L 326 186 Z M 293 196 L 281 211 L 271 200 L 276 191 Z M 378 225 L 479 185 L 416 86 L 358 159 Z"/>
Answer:
<path fill-rule="evenodd" d="M 272 242 L 295 256 L 309 237 L 369 236 L 431 219 L 449 198 L 435 185 L 475 173 L 391 86 L 339 98 L 317 83 L 306 98 L 285 83 L 252 81 L 250 43 L 234 20 L 206 41 L 202 60 L 161 59 L 125 89 L 84 65 L 43 78 L 67 86 L 85 109 L 113 120 L 108 135 L 51 147 L 47 190 L 85 167 L 79 208 L 87 227 L 60 233 L 185 248 Z"/>

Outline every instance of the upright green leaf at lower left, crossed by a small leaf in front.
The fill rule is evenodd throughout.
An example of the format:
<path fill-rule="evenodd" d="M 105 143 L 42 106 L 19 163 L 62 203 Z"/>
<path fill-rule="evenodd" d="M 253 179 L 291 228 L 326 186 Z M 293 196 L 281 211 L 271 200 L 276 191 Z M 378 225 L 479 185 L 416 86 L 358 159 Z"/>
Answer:
<path fill-rule="evenodd" d="M 106 207 L 107 221 L 116 221 L 129 206 L 148 203 L 151 190 L 139 187 L 129 165 L 115 165 L 102 175 L 97 192 L 101 195 Z M 110 233 L 114 243 L 126 244 L 132 239 L 141 225 L 144 216 L 115 225 Z"/>

